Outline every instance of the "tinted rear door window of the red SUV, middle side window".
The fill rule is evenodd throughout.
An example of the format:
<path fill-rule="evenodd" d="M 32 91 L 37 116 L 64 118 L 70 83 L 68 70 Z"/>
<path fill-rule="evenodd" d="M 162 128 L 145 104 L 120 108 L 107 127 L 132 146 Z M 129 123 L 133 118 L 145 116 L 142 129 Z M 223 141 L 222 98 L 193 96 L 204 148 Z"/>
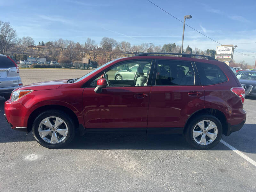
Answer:
<path fill-rule="evenodd" d="M 156 85 L 194 85 L 194 82 L 191 62 L 158 60 Z"/>

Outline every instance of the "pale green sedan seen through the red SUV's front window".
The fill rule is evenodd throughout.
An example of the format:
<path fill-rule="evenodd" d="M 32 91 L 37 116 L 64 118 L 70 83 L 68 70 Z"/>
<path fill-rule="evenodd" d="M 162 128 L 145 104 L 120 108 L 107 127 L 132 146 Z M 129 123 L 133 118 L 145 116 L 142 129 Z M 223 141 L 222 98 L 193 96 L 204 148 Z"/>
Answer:
<path fill-rule="evenodd" d="M 130 68 L 127 68 L 125 70 L 120 70 L 115 73 L 115 79 L 116 80 L 133 80 L 135 77 L 135 74 L 137 72 L 137 68 L 139 67 L 139 64 L 136 64 Z M 143 69 L 143 73 L 146 76 L 147 72 L 149 72 L 150 64 L 146 65 Z"/>

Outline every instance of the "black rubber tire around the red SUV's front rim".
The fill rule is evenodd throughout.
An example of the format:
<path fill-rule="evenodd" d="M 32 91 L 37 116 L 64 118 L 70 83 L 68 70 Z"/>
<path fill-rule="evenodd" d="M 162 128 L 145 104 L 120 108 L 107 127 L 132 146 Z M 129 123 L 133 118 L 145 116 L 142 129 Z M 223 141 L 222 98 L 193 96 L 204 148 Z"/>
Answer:
<path fill-rule="evenodd" d="M 67 134 L 66 138 L 56 144 L 51 144 L 51 143 L 44 141 L 39 135 L 39 130 L 38 130 L 39 124 L 41 123 L 41 121 L 44 118 L 49 117 L 49 116 L 60 117 L 68 126 L 68 134 Z M 68 145 L 73 140 L 73 138 L 75 136 L 75 128 L 76 127 L 73 122 L 73 119 L 71 119 L 68 114 L 66 114 L 62 111 L 59 111 L 59 110 L 47 110 L 36 117 L 36 119 L 32 125 L 32 133 L 33 133 L 34 138 L 40 145 L 42 145 L 46 148 L 56 149 L 56 148 L 62 148 L 64 146 Z"/>

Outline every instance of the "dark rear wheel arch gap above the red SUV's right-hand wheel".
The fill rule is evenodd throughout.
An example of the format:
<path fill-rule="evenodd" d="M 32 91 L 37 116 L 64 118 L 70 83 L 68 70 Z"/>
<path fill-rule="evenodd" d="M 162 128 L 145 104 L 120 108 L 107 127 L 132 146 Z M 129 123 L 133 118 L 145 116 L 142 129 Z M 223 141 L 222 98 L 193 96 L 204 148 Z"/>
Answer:
<path fill-rule="evenodd" d="M 193 120 L 193 118 L 199 116 L 199 115 L 213 115 L 215 117 L 217 117 L 220 120 L 220 123 L 222 125 L 222 129 L 223 129 L 223 134 L 226 135 L 228 132 L 228 122 L 227 122 L 227 118 L 225 116 L 225 114 L 223 112 L 221 112 L 218 109 L 213 109 L 213 108 L 205 108 L 205 109 L 201 109 L 196 111 L 195 113 L 193 113 L 187 120 L 185 127 L 184 127 L 184 131 L 183 133 L 186 131 L 187 129 L 187 125 Z"/>

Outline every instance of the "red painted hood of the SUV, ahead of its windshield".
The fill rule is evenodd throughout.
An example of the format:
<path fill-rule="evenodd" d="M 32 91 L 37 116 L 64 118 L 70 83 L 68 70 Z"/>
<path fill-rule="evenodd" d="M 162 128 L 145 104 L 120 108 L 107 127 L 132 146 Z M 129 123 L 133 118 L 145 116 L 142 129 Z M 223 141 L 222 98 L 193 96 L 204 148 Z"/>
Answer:
<path fill-rule="evenodd" d="M 40 83 L 32 83 L 25 85 L 21 87 L 19 90 L 24 90 L 24 89 L 31 89 L 31 90 L 47 90 L 47 89 L 57 89 L 61 85 L 66 84 L 68 79 L 62 79 L 62 80 L 54 80 L 54 81 L 45 81 L 45 82 L 40 82 Z"/>

